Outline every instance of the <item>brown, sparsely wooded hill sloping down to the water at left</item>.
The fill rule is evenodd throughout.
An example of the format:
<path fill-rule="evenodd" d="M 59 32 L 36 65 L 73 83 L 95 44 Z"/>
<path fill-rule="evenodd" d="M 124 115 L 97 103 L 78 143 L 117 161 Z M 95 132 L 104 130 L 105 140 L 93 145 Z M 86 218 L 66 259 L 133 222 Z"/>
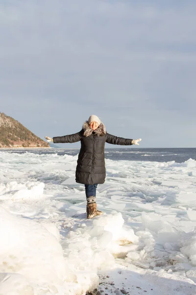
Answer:
<path fill-rule="evenodd" d="M 49 148 L 19 121 L 0 113 L 0 148 Z"/>

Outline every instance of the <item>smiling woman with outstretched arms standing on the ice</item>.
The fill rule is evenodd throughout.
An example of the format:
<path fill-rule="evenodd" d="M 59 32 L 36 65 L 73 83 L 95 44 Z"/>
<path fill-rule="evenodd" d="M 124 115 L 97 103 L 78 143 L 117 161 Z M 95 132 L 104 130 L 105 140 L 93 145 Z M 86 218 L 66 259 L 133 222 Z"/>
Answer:
<path fill-rule="evenodd" d="M 91 115 L 88 121 L 84 122 L 82 130 L 75 134 L 45 138 L 54 144 L 81 142 L 75 180 L 85 185 L 87 218 L 102 214 L 97 210 L 96 189 L 98 184 L 105 181 L 105 143 L 130 146 L 139 145 L 138 142 L 141 141 L 141 139 L 125 139 L 107 133 L 105 126 L 95 115 Z"/>

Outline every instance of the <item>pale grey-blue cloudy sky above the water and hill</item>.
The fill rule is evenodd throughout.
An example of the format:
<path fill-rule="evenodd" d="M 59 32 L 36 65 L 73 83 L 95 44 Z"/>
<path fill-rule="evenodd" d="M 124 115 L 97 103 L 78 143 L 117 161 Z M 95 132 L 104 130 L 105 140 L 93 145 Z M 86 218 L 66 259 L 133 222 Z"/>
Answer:
<path fill-rule="evenodd" d="M 0 112 L 42 139 L 95 114 L 140 148 L 196 148 L 195 11 L 195 0 L 0 0 Z"/>

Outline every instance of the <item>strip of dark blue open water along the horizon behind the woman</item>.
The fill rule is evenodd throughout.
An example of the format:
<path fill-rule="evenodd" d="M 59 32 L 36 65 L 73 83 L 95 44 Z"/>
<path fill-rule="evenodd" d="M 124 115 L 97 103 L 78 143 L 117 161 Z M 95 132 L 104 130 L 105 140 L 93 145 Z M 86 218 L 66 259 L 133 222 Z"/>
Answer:
<path fill-rule="evenodd" d="M 76 155 L 79 149 L 7 149 L 1 150 L 14 153 L 32 152 L 36 154 Z M 196 160 L 196 148 L 106 148 L 105 158 L 111 160 L 153 161 L 182 163 L 192 158 Z"/>

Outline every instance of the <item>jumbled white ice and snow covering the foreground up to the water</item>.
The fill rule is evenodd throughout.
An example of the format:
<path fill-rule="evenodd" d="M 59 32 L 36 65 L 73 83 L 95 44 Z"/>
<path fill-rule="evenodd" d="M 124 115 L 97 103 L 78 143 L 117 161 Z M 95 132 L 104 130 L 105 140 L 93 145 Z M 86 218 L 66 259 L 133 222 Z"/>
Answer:
<path fill-rule="evenodd" d="M 0 295 L 195 295 L 196 161 L 106 160 L 90 220 L 76 161 L 0 151 Z"/>

